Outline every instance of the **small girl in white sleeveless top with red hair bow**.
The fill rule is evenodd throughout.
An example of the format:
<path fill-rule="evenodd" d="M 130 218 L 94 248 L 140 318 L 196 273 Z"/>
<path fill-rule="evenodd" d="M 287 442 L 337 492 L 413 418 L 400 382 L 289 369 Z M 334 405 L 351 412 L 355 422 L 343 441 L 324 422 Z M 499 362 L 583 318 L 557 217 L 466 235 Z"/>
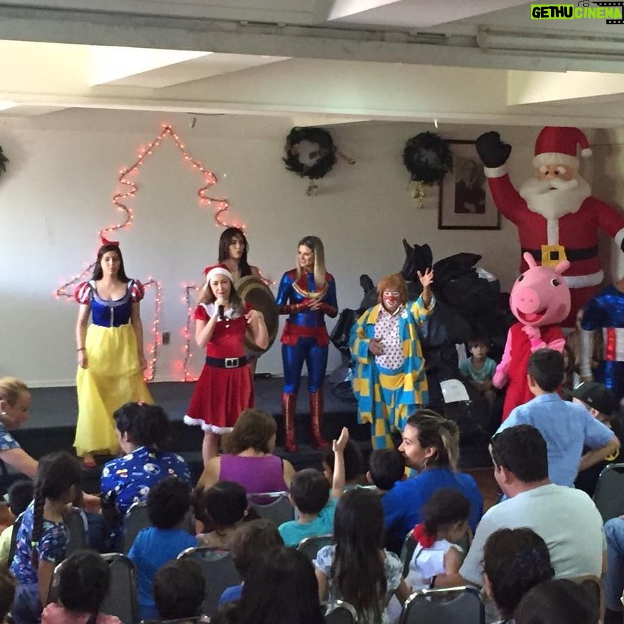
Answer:
<path fill-rule="evenodd" d="M 416 548 L 405 582 L 412 590 L 432 588 L 445 574 L 456 574 L 464 557 L 457 541 L 468 531 L 470 501 L 459 491 L 439 489 L 423 506 L 423 522 L 412 531 Z"/>

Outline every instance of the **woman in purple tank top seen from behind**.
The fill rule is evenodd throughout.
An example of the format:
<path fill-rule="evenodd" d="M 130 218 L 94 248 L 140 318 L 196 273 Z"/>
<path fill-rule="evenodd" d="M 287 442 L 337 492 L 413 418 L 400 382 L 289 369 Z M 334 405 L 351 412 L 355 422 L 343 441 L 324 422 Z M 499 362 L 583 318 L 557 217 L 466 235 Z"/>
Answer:
<path fill-rule="evenodd" d="M 264 410 L 243 410 L 232 433 L 224 440 L 226 453 L 208 460 L 197 489 L 212 487 L 218 481 L 235 481 L 247 494 L 289 489 L 295 473 L 286 459 L 273 455 L 276 423 Z"/>

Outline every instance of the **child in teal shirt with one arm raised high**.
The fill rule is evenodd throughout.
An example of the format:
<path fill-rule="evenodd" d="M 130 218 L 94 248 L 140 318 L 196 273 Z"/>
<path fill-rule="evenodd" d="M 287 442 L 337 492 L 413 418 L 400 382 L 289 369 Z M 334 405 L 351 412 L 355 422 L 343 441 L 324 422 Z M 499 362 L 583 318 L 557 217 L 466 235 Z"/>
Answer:
<path fill-rule="evenodd" d="M 344 447 L 349 438 L 346 427 L 333 441 L 334 475 L 332 491 L 323 473 L 307 468 L 294 475 L 290 483 L 290 502 L 297 508 L 298 518 L 280 524 L 279 530 L 286 546 L 297 546 L 306 537 L 331 533 L 338 499 L 344 491 Z"/>

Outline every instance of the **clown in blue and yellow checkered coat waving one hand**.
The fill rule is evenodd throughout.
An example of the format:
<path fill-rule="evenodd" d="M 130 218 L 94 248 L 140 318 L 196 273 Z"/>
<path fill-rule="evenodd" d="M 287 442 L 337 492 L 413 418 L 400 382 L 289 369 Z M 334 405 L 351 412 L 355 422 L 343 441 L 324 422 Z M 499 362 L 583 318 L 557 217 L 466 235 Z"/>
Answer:
<path fill-rule="evenodd" d="M 377 305 L 351 329 L 357 419 L 371 424 L 373 449 L 394 448 L 392 432 L 402 431 L 407 416 L 428 402 L 418 330 L 435 306 L 433 271 L 418 271 L 418 276 L 423 290 L 416 301 L 407 301 L 407 284 L 399 273 L 382 278 Z"/>

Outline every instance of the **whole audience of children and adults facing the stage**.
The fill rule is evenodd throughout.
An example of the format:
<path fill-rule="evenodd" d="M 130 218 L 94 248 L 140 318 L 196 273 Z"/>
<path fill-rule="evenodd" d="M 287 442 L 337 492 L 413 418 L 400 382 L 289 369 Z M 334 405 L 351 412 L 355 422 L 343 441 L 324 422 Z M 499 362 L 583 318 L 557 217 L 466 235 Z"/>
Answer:
<path fill-rule="evenodd" d="M 475 339 L 471 350 L 480 371 L 487 343 Z M 605 537 L 593 500 L 574 487 L 587 471 L 593 491 L 596 466 L 618 456 L 616 410 L 594 382 L 562 400 L 563 381 L 562 355 L 532 354 L 534 398 L 489 443 L 501 496 L 484 511 L 477 482 L 459 471 L 457 424 L 430 410 L 411 414 L 398 448 L 374 450 L 367 463 L 344 428 L 322 470 L 295 471 L 275 454 L 272 416 L 246 409 L 224 437 L 226 452 L 210 459 L 193 489 L 189 467 L 170 450 L 167 414 L 143 403 L 115 412 L 123 455 L 104 466 L 94 509 L 90 498 L 85 505 L 76 457 L 61 451 L 37 463 L 15 446 L 8 429 L 27 417 L 30 396 L 15 380 L 0 380 L 8 412 L 0 456 L 28 476 L 36 471 L 34 484 L 18 480 L 8 492 L 16 520 L 0 534 L 0 623 L 120 622 L 105 612 L 108 559 L 67 552 L 72 506 L 87 512 L 92 548 L 128 553 L 143 621 L 322 624 L 345 602 L 360 624 L 395 624 L 416 591 L 473 586 L 489 622 L 621 623 L 624 516 L 607 522 Z M 489 385 L 484 391 L 496 400 Z M 277 491 L 292 505 L 283 523 L 270 514 L 267 495 Z M 124 520 L 137 503 L 146 507 L 145 526 L 124 543 Z M 207 600 L 216 605 L 219 594 L 211 594 L 199 553 L 226 561 L 239 579 L 219 590 L 210 613 Z M 588 576 L 605 587 L 606 610 L 587 591 Z"/>

